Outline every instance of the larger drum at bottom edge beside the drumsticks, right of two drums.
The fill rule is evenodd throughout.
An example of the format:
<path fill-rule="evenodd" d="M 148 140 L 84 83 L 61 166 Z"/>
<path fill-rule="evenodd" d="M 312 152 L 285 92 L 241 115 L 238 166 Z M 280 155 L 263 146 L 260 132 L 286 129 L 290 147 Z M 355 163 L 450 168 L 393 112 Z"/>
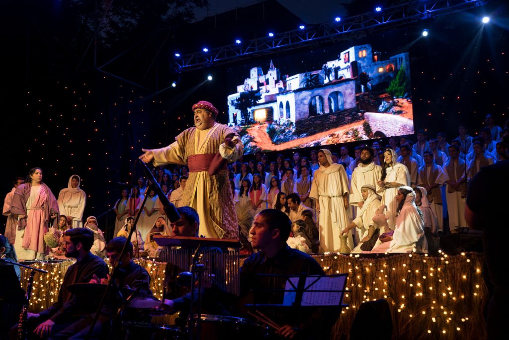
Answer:
<path fill-rule="evenodd" d="M 194 315 L 194 325 L 191 327 L 195 336 L 196 318 L 197 315 Z M 248 319 L 202 314 L 200 320 L 201 336 L 196 337 L 200 340 L 259 340 L 267 336 L 267 327 L 265 325 Z M 189 331 L 189 322 L 187 324 Z"/>

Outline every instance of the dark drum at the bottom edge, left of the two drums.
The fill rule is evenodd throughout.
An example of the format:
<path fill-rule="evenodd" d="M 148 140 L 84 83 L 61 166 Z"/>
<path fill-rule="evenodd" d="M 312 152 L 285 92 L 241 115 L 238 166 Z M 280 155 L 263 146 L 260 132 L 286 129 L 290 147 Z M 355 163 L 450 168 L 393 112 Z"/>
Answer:
<path fill-rule="evenodd" d="M 124 322 L 122 328 L 125 339 L 177 340 L 186 338 L 178 327 L 150 322 Z"/>

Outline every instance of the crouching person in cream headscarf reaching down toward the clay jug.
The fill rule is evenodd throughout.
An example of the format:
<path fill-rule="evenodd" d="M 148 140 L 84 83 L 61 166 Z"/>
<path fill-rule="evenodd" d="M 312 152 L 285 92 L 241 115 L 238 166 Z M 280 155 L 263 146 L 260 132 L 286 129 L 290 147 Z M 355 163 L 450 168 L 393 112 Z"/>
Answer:
<path fill-rule="evenodd" d="M 369 242 L 374 237 L 378 225 L 373 221 L 373 216 L 376 214 L 376 210 L 380 207 L 380 196 L 375 192 L 376 189 L 371 184 L 364 184 L 360 188 L 360 194 L 364 204 L 357 213 L 357 217 L 345 228 L 341 234 L 346 234 L 348 231 L 357 227 L 360 232 L 360 243 L 352 250 L 352 253 L 361 253 L 360 248 L 364 242 Z M 378 234 L 377 234 L 378 235 Z M 376 239 L 375 239 L 376 240 Z M 373 248 L 375 241 L 370 244 L 369 247 Z M 370 248 L 366 250 L 371 250 Z"/>

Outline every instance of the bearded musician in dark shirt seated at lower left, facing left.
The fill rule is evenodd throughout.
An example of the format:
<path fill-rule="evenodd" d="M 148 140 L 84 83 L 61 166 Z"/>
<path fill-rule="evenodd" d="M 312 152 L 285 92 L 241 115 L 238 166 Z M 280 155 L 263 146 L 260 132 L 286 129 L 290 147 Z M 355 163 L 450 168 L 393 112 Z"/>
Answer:
<path fill-rule="evenodd" d="M 87 228 L 69 229 L 64 233 L 66 257 L 75 258 L 76 263 L 65 273 L 58 300 L 40 313 L 28 313 L 26 327 L 29 333 L 33 331 L 37 337 L 48 337 L 95 311 L 97 306 L 71 294 L 67 289 L 72 284 L 89 282 L 94 275 L 106 277 L 108 267 L 101 258 L 90 252 L 93 243 L 94 233 Z M 11 338 L 16 338 L 17 331 L 18 326 L 11 328 Z"/>

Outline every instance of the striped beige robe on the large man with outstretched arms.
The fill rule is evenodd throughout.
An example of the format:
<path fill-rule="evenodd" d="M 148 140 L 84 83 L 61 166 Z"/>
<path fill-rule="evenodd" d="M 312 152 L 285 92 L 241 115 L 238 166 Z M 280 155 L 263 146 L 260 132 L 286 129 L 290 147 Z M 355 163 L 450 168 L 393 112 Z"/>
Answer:
<path fill-rule="evenodd" d="M 224 145 L 226 137 L 233 137 L 234 147 Z M 176 137 L 176 141 L 162 149 L 152 150 L 154 165 L 167 163 L 187 165 L 192 155 L 216 154 L 236 161 L 243 153 L 238 134 L 229 126 L 215 123 L 200 131 L 188 128 Z M 237 214 L 226 170 L 210 176 L 208 171 L 190 172 L 182 196 L 182 205 L 189 206 L 200 216 L 200 234 L 213 238 L 238 238 Z"/>

